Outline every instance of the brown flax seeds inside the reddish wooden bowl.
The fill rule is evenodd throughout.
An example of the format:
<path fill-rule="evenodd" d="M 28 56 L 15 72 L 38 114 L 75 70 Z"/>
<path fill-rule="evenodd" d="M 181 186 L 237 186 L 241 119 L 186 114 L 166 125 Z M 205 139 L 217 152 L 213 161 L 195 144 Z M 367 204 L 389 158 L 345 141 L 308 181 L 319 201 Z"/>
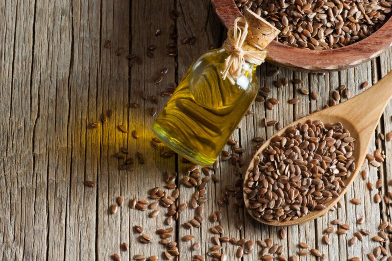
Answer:
<path fill-rule="evenodd" d="M 280 30 L 279 42 L 328 50 L 358 42 L 390 18 L 391 2 L 380 0 L 235 0 Z"/>

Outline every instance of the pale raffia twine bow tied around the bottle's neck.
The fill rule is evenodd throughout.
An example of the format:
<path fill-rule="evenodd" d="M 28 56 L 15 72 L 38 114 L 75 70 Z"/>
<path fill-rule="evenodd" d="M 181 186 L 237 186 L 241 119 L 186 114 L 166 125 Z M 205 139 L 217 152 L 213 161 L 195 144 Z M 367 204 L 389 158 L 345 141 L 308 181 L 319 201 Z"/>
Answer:
<path fill-rule="evenodd" d="M 222 45 L 230 53 L 224 62 L 225 68 L 221 72 L 222 78 L 228 78 L 232 83 L 234 83 L 234 78 L 239 78 L 244 74 L 243 64 L 245 61 L 260 65 L 266 57 L 267 52 L 260 47 L 258 47 L 260 51 L 244 50 L 243 45 L 248 34 L 248 27 L 246 19 L 238 17 L 234 22 L 234 26 L 227 32 L 227 39 Z"/>

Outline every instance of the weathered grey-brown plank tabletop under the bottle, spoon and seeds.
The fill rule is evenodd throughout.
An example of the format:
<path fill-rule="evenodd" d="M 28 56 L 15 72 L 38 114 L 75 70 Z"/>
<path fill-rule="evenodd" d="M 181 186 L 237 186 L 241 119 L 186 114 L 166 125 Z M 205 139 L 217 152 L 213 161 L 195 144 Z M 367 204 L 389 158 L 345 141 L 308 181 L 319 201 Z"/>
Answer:
<path fill-rule="evenodd" d="M 172 9 L 180 16 L 173 21 Z M 150 107 L 158 111 L 167 98 L 160 97 L 170 82 L 178 82 L 192 61 L 210 45 L 220 46 L 225 38 L 209 0 L 114 0 L 114 1 L 2 1 L 0 4 L 0 259 L 11 260 L 109 260 L 120 253 L 122 260 L 131 260 L 135 254 L 158 255 L 161 259 L 165 247 L 158 244 L 155 231 L 168 228 L 164 224 L 166 213 L 161 206 L 157 218 L 149 218 L 148 211 L 130 209 L 128 202 L 133 197 L 147 199 L 149 188 L 159 186 L 165 171 L 177 172 L 177 181 L 186 175 L 190 164 L 182 163 L 180 157 L 162 158 L 159 151 L 150 147 L 151 125 L 154 117 Z M 169 39 L 169 27 L 175 25 L 178 33 L 178 56 L 165 56 Z M 154 36 L 157 29 L 161 35 Z M 184 37 L 196 36 L 194 45 L 182 45 Z M 104 48 L 105 40 L 111 48 Z M 146 48 L 155 44 L 155 58 L 148 58 Z M 123 52 L 119 54 L 119 48 Z M 121 51 L 121 50 L 120 50 Z M 117 54 L 116 54 L 117 53 Z M 126 55 L 135 53 L 142 64 L 132 67 Z M 168 68 L 168 74 L 159 84 L 154 76 Z M 242 128 L 236 130 L 233 139 L 245 149 L 245 166 L 254 152 L 254 136 L 269 137 L 273 127 L 261 128 L 261 120 L 280 120 L 284 126 L 299 117 L 328 104 L 333 90 L 347 85 L 351 95 L 363 90 L 360 85 L 369 81 L 374 84 L 392 69 L 392 50 L 356 68 L 326 75 L 293 72 L 279 68 L 277 77 L 268 77 L 275 67 L 264 64 L 259 69 L 260 86 L 271 87 L 271 97 L 280 100 L 273 110 L 265 104 L 255 102 Z M 292 83 L 276 88 L 276 78 L 301 78 L 301 86 Z M 310 100 L 301 95 L 299 87 L 315 90 L 319 100 Z M 156 95 L 158 104 L 142 101 L 141 91 L 148 96 Z M 287 101 L 297 97 L 299 104 Z M 342 99 L 341 101 L 344 101 Z M 131 103 L 139 108 L 131 108 Z M 361 106 L 361 104 L 358 104 Z M 87 126 L 99 121 L 101 113 L 113 110 L 113 116 L 97 129 Z M 355 108 L 353 108 L 355 109 Z M 386 133 L 392 130 L 392 104 L 389 104 L 376 130 Z M 123 124 L 127 133 L 117 130 Z M 131 136 L 131 130 L 139 132 L 139 138 Z M 391 190 L 387 181 L 392 179 L 391 143 L 371 142 L 369 152 L 376 148 L 385 150 L 387 160 L 382 167 L 363 166 L 368 169 L 368 180 L 373 184 L 382 178 L 383 193 Z M 135 164 L 132 171 L 119 170 L 119 160 L 113 157 L 120 147 L 127 147 L 134 157 L 138 151 L 146 164 Z M 228 148 L 226 148 L 228 149 Z M 390 220 L 390 206 L 374 204 L 373 195 L 366 182 L 358 178 L 348 190 L 342 208 L 330 211 L 313 222 L 284 228 L 287 239 L 281 240 L 278 228 L 259 225 L 249 218 L 243 209 L 239 214 L 232 209 L 234 202 L 221 207 L 217 204 L 221 188 L 237 179 L 231 163 L 221 161 L 216 171 L 220 183 L 207 184 L 208 201 L 204 207 L 204 222 L 199 229 L 186 230 L 181 224 L 194 216 L 194 209 L 186 208 L 177 222 L 172 223 L 172 239 L 178 243 L 181 261 L 191 260 L 195 254 L 206 255 L 212 246 L 209 229 L 218 223 L 208 221 L 208 216 L 221 210 L 221 226 L 224 235 L 236 239 L 266 239 L 284 246 L 285 257 L 295 255 L 298 242 L 308 242 L 318 248 L 329 260 L 346 260 L 360 257 L 373 251 L 378 243 L 370 236 L 354 246 L 347 241 L 355 231 L 366 228 L 371 236 L 376 235 L 380 220 Z M 87 187 L 83 181 L 96 183 Z M 178 183 L 178 182 L 177 182 Z M 167 189 L 165 189 L 167 191 Z M 195 188 L 179 186 L 179 201 L 189 203 Z M 109 214 L 109 207 L 116 197 L 125 198 L 124 206 L 116 214 Z M 353 197 L 362 200 L 353 205 Z M 235 226 L 239 216 L 242 230 Z M 357 225 L 357 218 L 365 222 Z M 331 244 L 321 243 L 322 231 L 333 219 L 340 218 L 351 225 L 346 235 L 330 235 Z M 138 241 L 134 225 L 144 227 L 153 243 L 145 245 Z M 195 235 L 192 242 L 200 242 L 199 250 L 190 250 L 191 242 L 182 242 L 184 235 Z M 120 244 L 127 242 L 128 252 L 120 251 Z M 387 246 L 386 246 L 387 247 Z M 223 244 L 228 260 L 236 260 L 238 246 Z M 388 247 L 387 247 L 388 248 Z M 260 247 L 244 260 L 260 258 Z M 389 253 L 390 254 L 390 253 Z M 211 258 L 208 258 L 211 260 Z M 308 256 L 303 260 L 314 260 Z"/>

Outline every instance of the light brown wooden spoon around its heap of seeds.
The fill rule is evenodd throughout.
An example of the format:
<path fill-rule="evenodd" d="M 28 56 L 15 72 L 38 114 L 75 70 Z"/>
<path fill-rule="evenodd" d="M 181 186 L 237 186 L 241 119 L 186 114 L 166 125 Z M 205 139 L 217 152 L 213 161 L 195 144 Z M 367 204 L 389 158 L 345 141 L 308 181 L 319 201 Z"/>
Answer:
<path fill-rule="evenodd" d="M 295 126 L 298 123 L 304 123 L 307 120 L 320 120 L 325 123 L 336 123 L 341 122 L 343 128 L 350 131 L 351 136 L 355 138 L 354 141 L 354 152 L 355 157 L 355 170 L 351 173 L 351 176 L 344 181 L 346 187 L 340 193 L 339 197 L 334 198 L 327 203 L 326 208 L 322 210 L 310 211 L 307 215 L 300 217 L 296 220 L 289 221 L 266 221 L 261 218 L 257 218 L 249 211 L 249 200 L 247 199 L 247 194 L 244 190 L 244 200 L 246 209 L 248 209 L 249 214 L 256 219 L 258 222 L 270 225 L 270 226 L 292 226 L 302 224 L 311 221 L 323 214 L 325 214 L 329 209 L 331 209 L 340 198 L 346 193 L 348 187 L 353 183 L 354 179 L 357 177 L 359 170 L 364 163 L 365 157 L 368 153 L 369 143 L 373 137 L 374 130 L 380 120 L 380 117 L 392 97 L 392 71 L 378 81 L 374 86 L 364 91 L 360 95 L 353 97 L 341 104 L 323 109 L 316 113 L 310 114 L 303 117 L 292 124 L 286 126 L 284 129 L 279 130 L 272 137 L 276 135 L 282 135 L 288 127 Z M 272 138 L 271 137 L 271 138 Z M 267 140 L 263 146 L 259 148 L 256 152 L 255 157 L 264 151 L 270 144 L 270 140 Z M 251 160 L 249 167 L 246 171 L 245 184 L 248 181 L 249 173 L 253 169 L 254 157 Z"/>

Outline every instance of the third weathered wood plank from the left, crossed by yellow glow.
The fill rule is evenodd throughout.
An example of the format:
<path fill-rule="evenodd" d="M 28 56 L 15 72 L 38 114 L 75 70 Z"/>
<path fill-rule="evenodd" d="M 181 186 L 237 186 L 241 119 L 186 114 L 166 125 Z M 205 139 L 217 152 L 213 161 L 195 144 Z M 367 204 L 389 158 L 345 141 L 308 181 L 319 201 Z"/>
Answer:
<path fill-rule="evenodd" d="M 44 8 L 44 7 L 42 7 Z M 89 123 L 98 121 L 97 85 L 99 75 L 100 7 L 93 2 L 72 2 L 71 42 L 67 50 L 70 61 L 66 68 L 68 94 L 59 101 L 68 100 L 67 147 L 69 196 L 66 212 L 65 259 L 83 256 L 96 258 L 96 200 L 97 189 L 85 187 L 85 180 L 97 181 L 100 127 L 87 130 Z M 73 16 L 73 17 L 72 17 Z M 88 45 L 91 48 L 85 48 Z M 54 236 L 53 236 L 54 237 Z"/>

